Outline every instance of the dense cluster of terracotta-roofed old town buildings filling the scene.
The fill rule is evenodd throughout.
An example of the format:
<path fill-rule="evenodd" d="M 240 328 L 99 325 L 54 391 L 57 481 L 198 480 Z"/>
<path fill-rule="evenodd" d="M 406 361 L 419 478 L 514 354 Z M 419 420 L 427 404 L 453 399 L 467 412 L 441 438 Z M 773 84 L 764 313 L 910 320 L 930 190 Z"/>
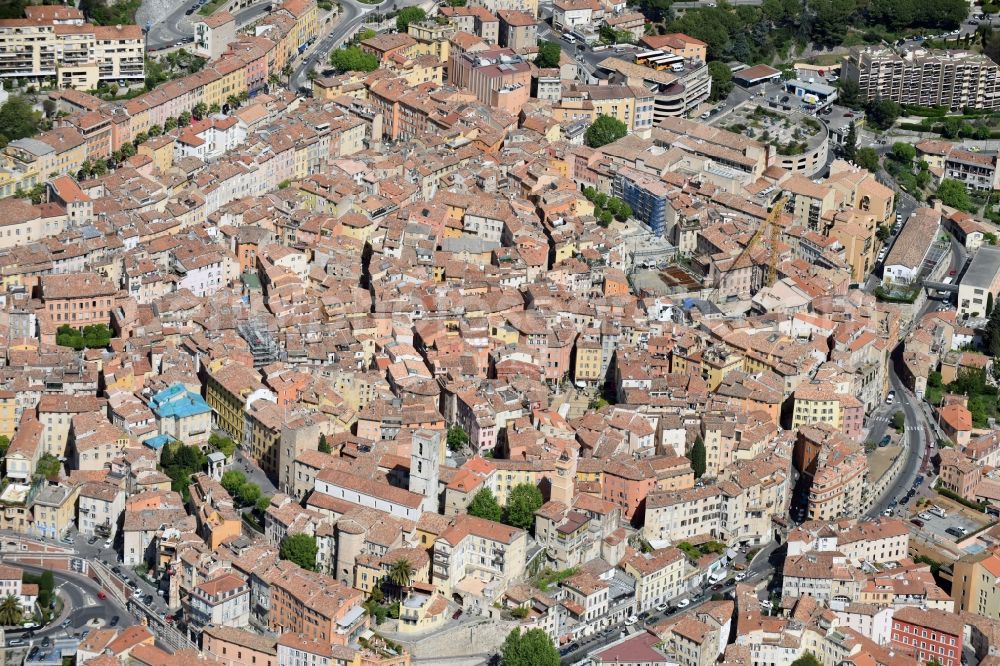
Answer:
<path fill-rule="evenodd" d="M 567 32 L 643 31 L 624 6 L 553 7 Z M 872 518 L 906 447 L 866 445 L 900 343 L 918 398 L 935 372 L 991 367 L 961 318 L 1000 296 L 991 227 L 918 208 L 880 254 L 896 202 L 873 174 L 807 177 L 686 117 L 710 92 L 703 42 L 641 36 L 649 51 L 609 51 L 584 82 L 568 54 L 536 66 L 536 15 L 441 8 L 360 40 L 375 71 L 302 95 L 274 79 L 322 37 L 314 2 L 249 31 L 218 12 L 195 21 L 198 73 L 120 103 L 67 85 L 57 126 L 5 148 L 0 193 L 45 195 L 0 200 L 0 528 L 111 540 L 174 614 L 151 628 L 185 646 L 109 627 L 81 664 L 405 666 L 514 628 L 605 636 L 595 664 L 958 666 L 997 643 L 1000 542 L 945 592 L 914 524 Z M 53 39 L 101 30 L 71 8 L 28 17 Z M 585 145 L 600 116 L 626 136 Z M 976 160 L 918 148 L 992 187 Z M 887 287 L 939 275 L 945 232 L 976 253 L 945 285 L 958 312 L 911 321 L 862 288 L 879 257 Z M 941 402 L 942 487 L 1000 502 L 1000 440 L 966 396 Z M 205 469 L 177 478 L 180 445 Z M 251 464 L 254 509 L 223 485 Z M 542 497 L 527 520 L 477 508 L 525 485 Z M 297 535 L 313 566 L 281 556 Z M 763 599 L 772 565 L 753 556 L 777 547 Z M 0 589 L 30 607 L 7 569 Z"/>

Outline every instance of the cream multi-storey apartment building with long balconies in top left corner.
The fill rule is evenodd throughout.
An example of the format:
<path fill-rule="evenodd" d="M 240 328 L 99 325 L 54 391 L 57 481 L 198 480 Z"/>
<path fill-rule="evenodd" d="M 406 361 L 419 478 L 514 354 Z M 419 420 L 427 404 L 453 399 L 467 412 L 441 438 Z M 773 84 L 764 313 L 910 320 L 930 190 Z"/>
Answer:
<path fill-rule="evenodd" d="M 145 40 L 137 25 L 95 26 L 60 5 L 27 7 L 0 20 L 0 78 L 55 77 L 60 88 L 90 90 L 145 76 Z"/>

